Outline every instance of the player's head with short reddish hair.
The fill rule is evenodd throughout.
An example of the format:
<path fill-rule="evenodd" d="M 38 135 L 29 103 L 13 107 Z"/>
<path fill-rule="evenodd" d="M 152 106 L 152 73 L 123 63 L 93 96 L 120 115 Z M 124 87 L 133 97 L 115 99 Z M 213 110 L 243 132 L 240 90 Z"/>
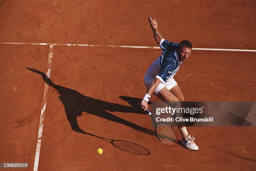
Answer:
<path fill-rule="evenodd" d="M 179 47 L 177 48 L 177 54 L 180 61 L 185 62 L 189 58 L 192 48 L 193 46 L 188 40 L 182 40 L 179 43 Z"/>

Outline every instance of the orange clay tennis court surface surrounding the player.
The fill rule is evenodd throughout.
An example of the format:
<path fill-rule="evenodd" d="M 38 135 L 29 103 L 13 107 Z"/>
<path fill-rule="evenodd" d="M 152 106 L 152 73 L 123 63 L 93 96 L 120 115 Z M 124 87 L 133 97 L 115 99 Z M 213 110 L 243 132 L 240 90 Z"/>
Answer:
<path fill-rule="evenodd" d="M 1 0 L 0 162 L 29 162 L 29 170 L 41 171 L 253 170 L 255 127 L 189 127 L 199 151 L 181 146 L 180 134 L 168 147 L 137 104 L 144 74 L 161 54 L 148 16 L 165 39 L 195 47 L 175 76 L 185 101 L 256 101 L 255 6 Z"/>

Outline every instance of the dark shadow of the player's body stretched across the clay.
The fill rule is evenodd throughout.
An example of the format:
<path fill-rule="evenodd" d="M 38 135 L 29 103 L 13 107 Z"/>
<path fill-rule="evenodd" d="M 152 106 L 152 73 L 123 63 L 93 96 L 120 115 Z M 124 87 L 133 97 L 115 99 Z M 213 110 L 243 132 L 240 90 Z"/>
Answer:
<path fill-rule="evenodd" d="M 69 121 L 69 124 L 74 131 L 86 134 L 85 131 L 82 130 L 77 124 L 77 116 L 81 116 L 82 112 L 87 112 L 89 114 L 93 114 L 95 116 L 108 119 L 109 121 L 113 121 L 119 124 L 129 126 L 137 131 L 141 131 L 153 136 L 155 135 L 154 131 L 150 129 L 138 126 L 130 121 L 127 121 L 125 119 L 122 119 L 110 113 L 110 112 L 123 112 L 123 113 L 144 114 L 144 112 L 140 108 L 138 108 L 137 101 L 136 101 L 137 106 L 133 103 L 131 105 L 132 107 L 129 107 L 121 104 L 105 102 L 100 99 L 84 96 L 83 94 L 77 92 L 74 89 L 69 89 L 67 87 L 54 84 L 54 82 L 52 82 L 51 79 L 49 79 L 49 77 L 47 77 L 46 74 L 44 74 L 41 71 L 38 71 L 36 69 L 31 69 L 28 67 L 27 69 L 33 72 L 36 72 L 38 74 L 41 74 L 44 81 L 47 84 L 49 84 L 50 87 L 53 87 L 58 91 L 58 93 L 60 94 L 59 99 L 61 100 L 65 108 L 67 120 Z M 128 101 L 130 102 L 130 100 L 132 99 L 130 98 Z"/>

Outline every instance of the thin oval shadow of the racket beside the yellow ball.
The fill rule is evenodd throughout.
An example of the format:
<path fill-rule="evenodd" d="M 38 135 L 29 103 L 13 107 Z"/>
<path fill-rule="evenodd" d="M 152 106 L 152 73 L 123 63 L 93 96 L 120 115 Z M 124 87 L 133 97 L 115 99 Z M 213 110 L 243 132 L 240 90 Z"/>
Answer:
<path fill-rule="evenodd" d="M 87 132 L 84 132 L 84 134 L 88 134 L 90 136 L 94 136 L 94 137 L 97 137 L 104 141 L 107 141 L 110 144 L 112 144 L 113 146 L 115 146 L 116 148 L 126 151 L 126 152 L 129 152 L 129 153 L 132 153 L 132 154 L 138 154 L 138 155 L 143 155 L 143 156 L 150 154 L 150 151 L 148 149 L 146 149 L 145 147 L 140 146 L 135 143 L 132 143 L 132 142 L 129 142 L 129 141 L 118 140 L 118 139 L 107 139 L 107 138 L 93 135 L 93 134 L 90 134 Z"/>

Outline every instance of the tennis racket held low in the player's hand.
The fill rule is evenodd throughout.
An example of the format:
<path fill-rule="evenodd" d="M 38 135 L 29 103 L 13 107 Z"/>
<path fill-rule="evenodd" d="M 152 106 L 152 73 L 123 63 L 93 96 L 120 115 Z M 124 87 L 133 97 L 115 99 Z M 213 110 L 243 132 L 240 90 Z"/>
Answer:
<path fill-rule="evenodd" d="M 173 130 L 172 126 L 165 122 L 157 122 L 156 118 L 151 114 L 150 110 L 147 109 L 148 114 L 155 125 L 155 133 L 157 138 L 166 146 L 173 146 L 177 142 L 177 135 Z"/>

